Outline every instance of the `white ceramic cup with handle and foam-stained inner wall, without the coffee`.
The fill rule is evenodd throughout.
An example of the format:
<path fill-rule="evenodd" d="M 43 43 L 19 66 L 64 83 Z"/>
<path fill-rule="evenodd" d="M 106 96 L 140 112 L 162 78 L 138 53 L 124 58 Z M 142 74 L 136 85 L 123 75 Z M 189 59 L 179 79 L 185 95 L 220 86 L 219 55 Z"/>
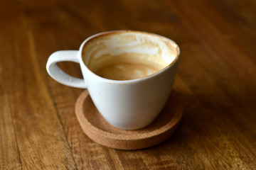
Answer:
<path fill-rule="evenodd" d="M 139 79 L 106 79 L 92 72 L 90 62 L 105 55 L 144 55 L 149 60 L 164 60 L 166 67 Z M 80 50 L 54 52 L 46 69 L 55 81 L 87 89 L 100 114 L 114 127 L 135 130 L 149 125 L 164 107 L 171 93 L 178 67 L 178 45 L 153 33 L 115 30 L 87 38 Z M 148 59 L 146 59 L 148 60 Z M 57 66 L 57 62 L 77 62 L 83 79 L 72 77 Z M 96 62 L 97 64 L 97 62 Z"/>

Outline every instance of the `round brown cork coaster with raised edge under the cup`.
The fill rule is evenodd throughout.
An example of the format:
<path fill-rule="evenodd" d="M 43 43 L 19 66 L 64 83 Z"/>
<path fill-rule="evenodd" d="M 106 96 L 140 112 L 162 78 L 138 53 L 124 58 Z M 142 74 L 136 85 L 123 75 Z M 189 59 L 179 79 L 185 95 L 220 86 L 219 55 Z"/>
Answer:
<path fill-rule="evenodd" d="M 115 128 L 100 115 L 87 90 L 75 103 L 75 113 L 82 130 L 95 142 L 114 149 L 142 149 L 163 142 L 176 130 L 183 113 L 178 95 L 172 91 L 158 117 L 139 130 Z"/>

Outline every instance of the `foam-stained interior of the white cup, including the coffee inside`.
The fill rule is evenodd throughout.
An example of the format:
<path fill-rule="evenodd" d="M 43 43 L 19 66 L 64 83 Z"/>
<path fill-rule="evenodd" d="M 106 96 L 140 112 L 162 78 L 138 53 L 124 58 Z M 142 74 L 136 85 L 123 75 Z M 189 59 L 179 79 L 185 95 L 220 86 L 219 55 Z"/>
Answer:
<path fill-rule="evenodd" d="M 178 45 L 168 38 L 138 31 L 112 31 L 88 38 L 82 60 L 105 79 L 139 79 L 168 67 L 178 57 Z"/>

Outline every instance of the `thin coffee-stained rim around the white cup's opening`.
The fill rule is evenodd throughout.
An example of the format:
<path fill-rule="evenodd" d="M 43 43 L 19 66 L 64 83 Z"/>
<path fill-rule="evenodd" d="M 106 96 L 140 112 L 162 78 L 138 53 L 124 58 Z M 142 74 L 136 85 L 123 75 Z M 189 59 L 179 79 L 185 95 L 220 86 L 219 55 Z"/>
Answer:
<path fill-rule="evenodd" d="M 89 42 L 90 40 L 94 39 L 94 38 L 97 38 L 101 35 L 107 35 L 107 34 L 114 34 L 114 33 L 141 33 L 141 34 L 147 34 L 147 35 L 151 35 L 151 36 L 156 36 L 156 37 L 159 37 L 159 38 L 163 38 L 164 40 L 168 40 L 172 43 L 174 43 L 176 45 L 176 50 L 177 50 L 177 55 L 175 57 L 175 59 L 170 63 L 168 64 L 166 67 L 164 67 L 164 69 L 161 69 L 159 72 L 156 72 L 154 74 L 150 74 L 149 76 L 146 76 L 146 77 L 142 77 L 142 78 L 139 78 L 139 79 L 130 79 L 130 80 L 115 80 L 115 79 L 106 79 L 104 77 L 100 77 L 98 76 L 97 74 L 95 74 L 94 72 L 92 72 L 86 65 L 85 65 L 85 62 L 82 60 L 82 50 L 85 46 L 85 43 Z M 137 82 L 137 81 L 142 81 L 142 80 L 146 80 L 146 79 L 151 79 L 153 77 L 156 77 L 157 75 L 165 72 L 169 67 L 171 67 L 174 63 L 176 63 L 179 59 L 179 56 L 181 54 L 181 50 L 180 48 L 178 47 L 178 44 L 176 42 L 174 42 L 174 40 L 171 40 L 169 38 L 166 38 L 162 35 L 158 35 L 156 33 L 149 33 L 149 32 L 146 32 L 146 31 L 140 31 L 140 30 L 109 30 L 109 31 L 105 31 L 105 32 L 102 32 L 102 33 L 97 33 L 95 35 L 91 35 L 90 37 L 86 38 L 82 44 L 80 45 L 80 48 L 79 48 L 79 62 L 80 64 L 82 64 L 85 69 L 87 69 L 87 72 L 92 74 L 94 77 L 97 77 L 97 79 L 101 79 L 102 81 L 107 81 L 109 83 L 116 83 L 116 84 L 127 84 L 127 83 L 132 83 L 132 82 Z"/>

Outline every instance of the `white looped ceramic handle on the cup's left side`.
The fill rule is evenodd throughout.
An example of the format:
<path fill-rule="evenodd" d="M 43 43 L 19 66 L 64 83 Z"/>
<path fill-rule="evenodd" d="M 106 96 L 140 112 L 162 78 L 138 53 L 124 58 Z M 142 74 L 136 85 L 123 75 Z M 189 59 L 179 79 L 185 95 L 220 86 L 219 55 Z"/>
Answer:
<path fill-rule="evenodd" d="M 77 87 L 81 89 L 86 89 L 87 86 L 85 84 L 84 79 L 78 79 L 70 76 L 63 72 L 60 67 L 58 67 L 57 62 L 77 62 L 78 60 L 78 50 L 62 50 L 53 52 L 52 55 L 48 58 L 46 64 L 46 70 L 50 77 L 58 81 L 60 84 L 65 84 L 66 86 Z"/>

